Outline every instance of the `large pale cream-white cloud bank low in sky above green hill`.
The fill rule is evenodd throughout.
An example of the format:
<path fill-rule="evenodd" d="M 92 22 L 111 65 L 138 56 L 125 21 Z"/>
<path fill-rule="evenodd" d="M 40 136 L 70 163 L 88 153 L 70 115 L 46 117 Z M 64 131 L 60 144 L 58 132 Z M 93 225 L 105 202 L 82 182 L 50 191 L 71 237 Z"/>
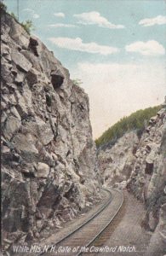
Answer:
<path fill-rule="evenodd" d="M 165 96 L 161 63 L 81 62 L 70 72 L 72 79 L 83 81 L 81 86 L 89 95 L 94 138 L 123 116 L 160 104 Z"/>

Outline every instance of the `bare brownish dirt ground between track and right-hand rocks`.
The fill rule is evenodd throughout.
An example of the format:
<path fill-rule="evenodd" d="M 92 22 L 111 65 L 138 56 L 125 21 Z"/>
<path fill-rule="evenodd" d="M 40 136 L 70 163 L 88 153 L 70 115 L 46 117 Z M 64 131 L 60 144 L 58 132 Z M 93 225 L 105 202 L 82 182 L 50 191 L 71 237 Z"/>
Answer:
<path fill-rule="evenodd" d="M 112 247 L 115 252 L 90 253 L 90 255 L 109 256 L 142 256 L 152 234 L 140 227 L 141 218 L 144 215 L 144 206 L 133 195 L 124 191 L 124 203 L 113 223 L 103 233 L 96 247 Z"/>

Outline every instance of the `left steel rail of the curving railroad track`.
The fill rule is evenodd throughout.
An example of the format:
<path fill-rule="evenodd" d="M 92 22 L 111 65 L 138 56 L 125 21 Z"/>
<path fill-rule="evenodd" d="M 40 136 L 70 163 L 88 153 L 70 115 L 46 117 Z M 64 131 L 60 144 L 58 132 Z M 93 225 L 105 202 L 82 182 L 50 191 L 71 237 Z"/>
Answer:
<path fill-rule="evenodd" d="M 94 212 L 94 214 L 87 220 L 85 221 L 83 224 L 79 225 L 77 227 L 77 229 L 73 230 L 72 232 L 70 232 L 69 234 L 67 234 L 66 236 L 64 236 L 62 239 L 60 239 L 60 241 L 57 241 L 56 243 L 52 244 L 48 251 L 51 249 L 51 247 L 53 246 L 57 246 L 58 244 L 60 244 L 62 241 L 65 241 L 68 237 L 72 236 L 74 233 L 76 233 L 78 230 L 81 230 L 86 224 L 89 224 L 90 221 L 92 221 L 95 217 L 97 217 L 101 212 L 103 212 L 106 207 L 109 206 L 109 204 L 111 203 L 112 201 L 112 192 L 108 189 L 102 189 L 102 190 L 105 190 L 109 195 L 110 195 L 110 198 L 108 199 L 108 201 L 106 201 L 106 204 L 101 207 L 97 212 Z M 43 252 L 43 253 L 38 253 L 37 256 L 40 256 L 40 255 L 44 255 L 46 252 Z"/>

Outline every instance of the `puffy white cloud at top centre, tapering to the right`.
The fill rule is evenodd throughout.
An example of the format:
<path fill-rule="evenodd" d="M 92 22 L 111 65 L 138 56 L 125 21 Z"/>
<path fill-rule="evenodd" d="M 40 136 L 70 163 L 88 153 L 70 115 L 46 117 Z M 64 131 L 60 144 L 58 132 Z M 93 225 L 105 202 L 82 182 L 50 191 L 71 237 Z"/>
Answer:
<path fill-rule="evenodd" d="M 102 17 L 100 13 L 95 11 L 89 12 L 89 13 L 83 13 L 79 15 L 73 15 L 73 16 L 78 19 L 79 24 L 83 24 L 83 25 L 98 25 L 98 26 L 106 27 L 110 29 L 124 28 L 123 25 L 112 24 L 110 21 L 106 20 L 105 17 Z"/>

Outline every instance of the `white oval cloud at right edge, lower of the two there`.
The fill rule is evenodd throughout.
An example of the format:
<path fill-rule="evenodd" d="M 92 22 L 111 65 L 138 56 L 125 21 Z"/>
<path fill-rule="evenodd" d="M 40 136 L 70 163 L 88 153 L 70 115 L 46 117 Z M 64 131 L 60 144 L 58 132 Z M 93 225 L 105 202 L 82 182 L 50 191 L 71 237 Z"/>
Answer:
<path fill-rule="evenodd" d="M 129 52 L 137 52 L 141 55 L 164 55 L 165 49 L 162 44 L 159 44 L 155 40 L 147 41 L 147 42 L 135 42 L 133 44 L 126 45 L 126 51 Z"/>

